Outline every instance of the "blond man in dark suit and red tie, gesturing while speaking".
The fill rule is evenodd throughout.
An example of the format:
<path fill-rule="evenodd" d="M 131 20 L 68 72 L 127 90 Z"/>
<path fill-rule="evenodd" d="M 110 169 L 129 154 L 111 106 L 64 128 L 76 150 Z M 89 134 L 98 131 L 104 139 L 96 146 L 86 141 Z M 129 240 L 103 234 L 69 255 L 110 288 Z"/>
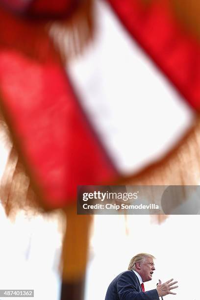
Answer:
<path fill-rule="evenodd" d="M 148 253 L 139 253 L 131 259 L 128 271 L 119 274 L 110 283 L 105 300 L 159 300 L 159 297 L 166 296 L 172 289 L 177 288 L 170 279 L 165 283 L 157 284 L 157 288 L 145 292 L 144 283 L 152 279 L 155 270 L 153 259 L 155 257 Z"/>

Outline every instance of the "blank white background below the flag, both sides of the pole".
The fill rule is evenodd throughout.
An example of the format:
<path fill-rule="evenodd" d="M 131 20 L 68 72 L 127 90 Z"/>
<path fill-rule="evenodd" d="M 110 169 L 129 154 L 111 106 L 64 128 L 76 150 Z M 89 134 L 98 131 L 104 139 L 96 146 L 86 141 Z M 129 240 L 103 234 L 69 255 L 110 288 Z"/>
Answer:
<path fill-rule="evenodd" d="M 142 251 L 156 257 L 146 290 L 155 288 L 158 279 L 173 277 L 178 280 L 177 295 L 166 300 L 200 300 L 199 227 L 199 215 L 170 216 L 161 225 L 150 216 L 127 216 L 127 223 L 124 216 L 96 216 L 85 300 L 103 300 L 110 281 Z M 12 224 L 0 210 L 0 240 L 0 289 L 34 289 L 35 300 L 59 300 L 61 235 L 56 217 L 27 220 L 20 214 Z"/>

